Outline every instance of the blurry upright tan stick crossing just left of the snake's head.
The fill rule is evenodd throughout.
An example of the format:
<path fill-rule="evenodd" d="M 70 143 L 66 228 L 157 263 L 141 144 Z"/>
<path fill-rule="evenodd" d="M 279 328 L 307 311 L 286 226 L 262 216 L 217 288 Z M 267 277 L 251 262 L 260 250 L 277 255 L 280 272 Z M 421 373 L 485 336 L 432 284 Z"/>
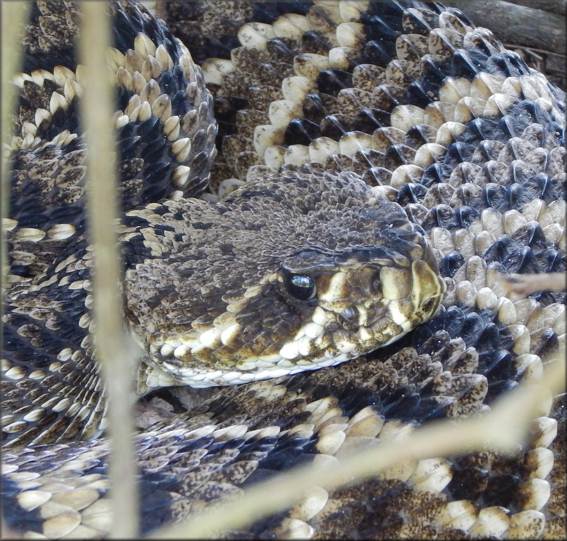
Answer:
<path fill-rule="evenodd" d="M 106 54 L 111 46 L 111 20 L 106 2 L 84 1 L 80 59 L 86 84 L 81 118 L 89 148 L 89 234 L 94 254 L 93 340 L 105 376 L 111 439 L 109 475 L 111 538 L 132 538 L 138 531 L 136 462 L 133 443 L 133 347 L 129 346 L 120 287 L 122 268 L 116 234 L 116 144 L 114 89 Z M 130 349 L 130 351 L 128 351 Z"/>

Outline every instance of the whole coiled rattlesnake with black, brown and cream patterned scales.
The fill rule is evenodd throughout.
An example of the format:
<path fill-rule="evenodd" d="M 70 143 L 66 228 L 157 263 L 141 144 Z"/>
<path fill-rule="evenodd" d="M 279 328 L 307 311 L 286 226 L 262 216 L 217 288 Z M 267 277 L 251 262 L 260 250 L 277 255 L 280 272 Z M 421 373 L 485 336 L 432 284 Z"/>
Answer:
<path fill-rule="evenodd" d="M 142 535 L 540 378 L 565 293 L 498 276 L 565 271 L 563 91 L 438 3 L 148 7 L 112 6 L 108 54 L 137 393 L 171 409 L 135 436 Z M 112 512 L 79 20 L 33 4 L 8 142 L 3 518 L 35 538 Z M 564 538 L 565 395 L 538 413 L 513 456 L 405 461 L 227 535 Z"/>

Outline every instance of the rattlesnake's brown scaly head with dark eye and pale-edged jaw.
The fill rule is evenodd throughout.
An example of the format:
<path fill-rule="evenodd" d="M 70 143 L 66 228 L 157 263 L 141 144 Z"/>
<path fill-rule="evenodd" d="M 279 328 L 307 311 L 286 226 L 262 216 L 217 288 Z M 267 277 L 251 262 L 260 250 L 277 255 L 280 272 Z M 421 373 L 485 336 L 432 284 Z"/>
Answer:
<path fill-rule="evenodd" d="M 217 204 L 166 204 L 159 228 L 138 227 L 160 264 L 126 273 L 148 387 L 342 363 L 429 319 L 445 291 L 421 228 L 355 174 L 282 172 Z"/>

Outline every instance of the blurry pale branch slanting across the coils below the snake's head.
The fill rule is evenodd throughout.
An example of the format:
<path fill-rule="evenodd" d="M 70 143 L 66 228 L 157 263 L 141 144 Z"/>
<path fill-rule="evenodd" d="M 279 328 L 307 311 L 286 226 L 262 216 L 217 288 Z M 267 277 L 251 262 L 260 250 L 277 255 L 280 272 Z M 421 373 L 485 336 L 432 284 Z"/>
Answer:
<path fill-rule="evenodd" d="M 560 353 L 560 358 L 564 353 Z M 278 475 L 262 486 L 252 487 L 241 498 L 216 505 L 176 526 L 162 528 L 151 539 L 196 539 L 216 537 L 239 529 L 266 515 L 289 508 L 312 487 L 334 489 L 353 480 L 361 481 L 409 459 L 452 456 L 490 448 L 503 453 L 517 450 L 516 444 L 529 429 L 534 412 L 550 393 L 561 392 L 565 381 L 563 362 L 550 363 L 542 381 L 522 385 L 501 398 L 482 417 L 431 422 L 416 429 L 404 441 L 376 442 L 340 460 L 340 466 L 301 466 Z"/>

